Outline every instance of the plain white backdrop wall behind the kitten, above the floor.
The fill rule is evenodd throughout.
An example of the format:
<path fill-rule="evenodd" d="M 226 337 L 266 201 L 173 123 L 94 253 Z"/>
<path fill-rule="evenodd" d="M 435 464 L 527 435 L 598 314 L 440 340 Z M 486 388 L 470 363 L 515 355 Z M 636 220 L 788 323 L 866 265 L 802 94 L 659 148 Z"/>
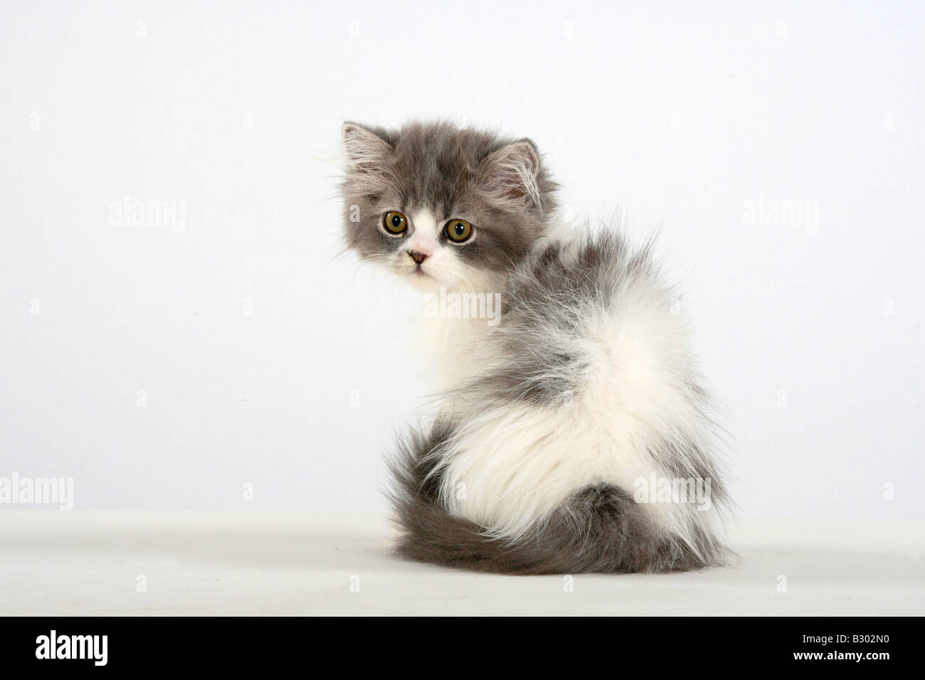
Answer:
<path fill-rule="evenodd" d="M 450 117 L 531 137 L 574 216 L 660 225 L 742 513 L 921 517 L 923 20 L 4 2 L 0 476 L 73 477 L 78 509 L 383 507 L 420 309 L 337 257 L 339 126 Z M 126 195 L 184 229 L 110 224 Z"/>

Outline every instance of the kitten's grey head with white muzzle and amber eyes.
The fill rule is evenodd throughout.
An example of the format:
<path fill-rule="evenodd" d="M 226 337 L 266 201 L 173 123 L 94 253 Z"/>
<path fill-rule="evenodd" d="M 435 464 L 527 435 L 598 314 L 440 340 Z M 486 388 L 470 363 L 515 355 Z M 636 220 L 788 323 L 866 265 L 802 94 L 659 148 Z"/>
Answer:
<path fill-rule="evenodd" d="M 348 245 L 427 288 L 478 285 L 530 252 L 555 184 L 529 140 L 449 123 L 343 126 Z"/>

